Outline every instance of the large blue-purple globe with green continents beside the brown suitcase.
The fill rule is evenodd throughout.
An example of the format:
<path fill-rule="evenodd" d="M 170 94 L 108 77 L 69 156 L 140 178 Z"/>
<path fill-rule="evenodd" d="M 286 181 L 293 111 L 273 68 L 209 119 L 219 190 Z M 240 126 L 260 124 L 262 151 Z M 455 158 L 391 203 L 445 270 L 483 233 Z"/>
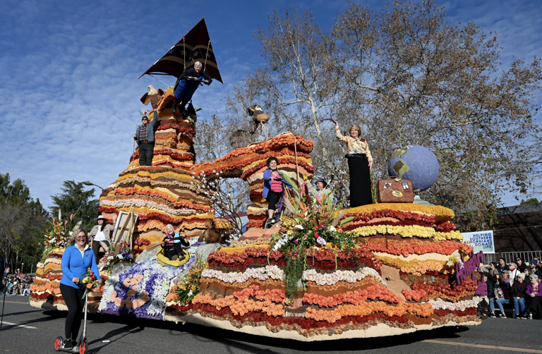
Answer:
<path fill-rule="evenodd" d="M 399 154 L 400 156 L 397 156 Z M 398 161 L 399 164 L 397 164 Z M 390 165 L 387 166 L 387 173 L 390 175 L 390 178 L 398 176 L 393 167 L 397 166 L 396 169 L 398 169 L 404 164 L 408 166 L 409 170 L 403 174 L 403 178 L 412 181 L 414 190 L 422 192 L 437 181 L 439 171 L 438 160 L 435 154 L 427 147 L 409 145 L 402 149 L 397 149 L 396 153 L 392 154 Z M 407 168 L 403 167 L 403 169 L 406 170 Z"/>

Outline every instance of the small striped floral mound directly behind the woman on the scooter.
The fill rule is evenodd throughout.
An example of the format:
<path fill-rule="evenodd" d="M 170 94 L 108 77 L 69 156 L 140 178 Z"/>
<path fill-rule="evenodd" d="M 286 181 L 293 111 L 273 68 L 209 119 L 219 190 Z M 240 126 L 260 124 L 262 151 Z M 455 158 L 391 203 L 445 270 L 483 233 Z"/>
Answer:
<path fill-rule="evenodd" d="M 62 279 L 60 267 L 63 254 L 64 248 L 55 248 L 47 255 L 44 262 L 37 264 L 36 279 L 30 285 L 30 305 L 32 307 L 68 310 L 60 293 L 60 281 Z M 107 279 L 106 274 L 100 273 L 100 276 L 102 279 Z M 93 288 L 89 293 L 90 307 L 100 301 L 103 288 L 103 285 Z"/>

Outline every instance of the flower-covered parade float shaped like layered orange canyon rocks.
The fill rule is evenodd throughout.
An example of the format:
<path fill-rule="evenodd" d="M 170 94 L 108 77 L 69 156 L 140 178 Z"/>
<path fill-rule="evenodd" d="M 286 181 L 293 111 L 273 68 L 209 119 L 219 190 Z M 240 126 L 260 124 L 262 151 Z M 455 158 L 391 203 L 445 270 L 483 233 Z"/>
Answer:
<path fill-rule="evenodd" d="M 176 47 L 186 49 L 189 38 Z M 210 42 L 205 45 L 207 57 L 212 47 Z M 152 166 L 139 166 L 135 152 L 100 195 L 100 213 L 110 224 L 118 224 L 123 213 L 137 219 L 132 217 L 127 236 L 115 235 L 112 247 L 101 255 L 100 276 L 106 281 L 89 294 L 90 311 L 297 341 L 392 336 L 481 323 L 477 307 L 487 288 L 476 267 L 483 255 L 461 242 L 451 209 L 427 202 L 345 208 L 342 200 L 313 200 L 306 181 L 315 172 L 314 143 L 292 133 L 194 164 L 197 114 L 190 107 L 174 113 L 173 102 L 169 87 L 159 97 L 157 113 L 149 115 L 157 120 Z M 393 164 L 413 167 L 408 177 L 414 189 L 420 183 L 429 188 L 438 176 L 436 159 L 420 148 L 407 147 L 392 159 Z M 277 157 L 278 169 L 293 190 L 287 193 L 280 222 L 264 229 L 268 157 Z M 220 178 L 248 183 L 248 231 L 231 243 L 206 243 L 196 236 L 209 221 L 229 227 L 227 220 L 215 219 L 205 190 L 210 183 L 202 183 Z M 182 261 L 160 257 L 157 246 L 167 224 L 190 242 Z M 67 220 L 59 219 L 47 231 L 30 305 L 66 310 L 59 281 L 71 230 Z"/>

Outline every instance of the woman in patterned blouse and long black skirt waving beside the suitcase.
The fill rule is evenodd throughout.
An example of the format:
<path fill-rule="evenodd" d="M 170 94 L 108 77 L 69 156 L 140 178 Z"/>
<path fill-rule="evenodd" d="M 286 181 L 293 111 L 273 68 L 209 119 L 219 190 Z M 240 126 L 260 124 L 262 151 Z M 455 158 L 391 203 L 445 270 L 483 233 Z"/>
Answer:
<path fill-rule="evenodd" d="M 340 142 L 348 147 L 348 169 L 350 171 L 350 207 L 373 204 L 371 191 L 371 170 L 373 169 L 373 156 L 365 139 L 361 138 L 361 128 L 354 124 L 351 126 L 350 136 L 343 136 L 339 130 L 339 123 L 335 123 L 335 135 Z"/>

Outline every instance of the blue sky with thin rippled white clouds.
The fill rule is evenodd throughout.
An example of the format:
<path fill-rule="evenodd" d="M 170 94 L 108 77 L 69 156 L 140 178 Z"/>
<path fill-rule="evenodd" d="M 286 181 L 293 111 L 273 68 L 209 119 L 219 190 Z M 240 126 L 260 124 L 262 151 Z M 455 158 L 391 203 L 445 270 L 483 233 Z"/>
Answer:
<path fill-rule="evenodd" d="M 387 1 L 364 1 L 379 11 Z M 540 1 L 447 1 L 452 23 L 498 32 L 502 68 L 512 56 L 542 56 Z M 272 6 L 272 7 L 271 7 Z M 21 178 L 51 205 L 65 180 L 106 188 L 128 166 L 140 123 L 138 77 L 205 18 L 224 85 L 194 95 L 200 117 L 223 110 L 224 95 L 262 62 L 255 30 L 272 8 L 311 9 L 327 28 L 346 1 L 13 1 L 0 2 L 0 173 Z M 169 85 L 174 78 L 160 76 Z M 505 205 L 517 205 L 513 195 Z"/>

